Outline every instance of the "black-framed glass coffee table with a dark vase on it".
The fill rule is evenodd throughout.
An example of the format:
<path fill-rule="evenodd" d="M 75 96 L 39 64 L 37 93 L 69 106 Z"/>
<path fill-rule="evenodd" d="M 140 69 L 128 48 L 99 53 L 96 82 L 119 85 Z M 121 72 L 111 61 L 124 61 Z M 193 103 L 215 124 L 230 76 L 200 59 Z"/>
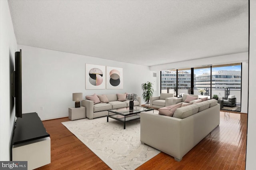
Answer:
<path fill-rule="evenodd" d="M 125 123 L 128 121 L 140 119 L 140 112 L 143 112 L 143 111 L 153 111 L 154 113 L 153 108 L 147 108 L 147 107 L 141 107 L 141 106 L 134 106 L 133 110 L 129 110 L 129 107 L 111 109 L 111 110 L 108 110 L 107 122 L 108 122 L 108 117 L 124 122 L 124 129 L 125 129 Z"/>

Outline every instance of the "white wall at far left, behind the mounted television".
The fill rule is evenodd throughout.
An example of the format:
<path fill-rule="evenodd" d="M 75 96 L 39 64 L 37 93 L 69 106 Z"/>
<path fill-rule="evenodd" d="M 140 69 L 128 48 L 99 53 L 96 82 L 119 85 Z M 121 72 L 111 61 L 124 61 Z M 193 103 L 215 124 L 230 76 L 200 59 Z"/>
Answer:
<path fill-rule="evenodd" d="M 12 130 L 15 121 L 11 95 L 11 73 L 17 42 L 14 35 L 8 1 L 0 0 L 0 160 L 10 160 Z"/>

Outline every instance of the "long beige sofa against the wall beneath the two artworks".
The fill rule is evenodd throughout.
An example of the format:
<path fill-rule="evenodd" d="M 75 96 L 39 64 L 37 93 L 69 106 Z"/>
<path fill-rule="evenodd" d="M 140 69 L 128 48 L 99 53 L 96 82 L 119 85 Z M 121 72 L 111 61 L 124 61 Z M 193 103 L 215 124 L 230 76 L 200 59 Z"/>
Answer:
<path fill-rule="evenodd" d="M 118 101 L 117 94 L 106 94 L 108 99 L 107 103 L 97 103 L 94 104 L 94 101 L 83 99 L 81 101 L 81 105 L 86 108 L 86 117 L 88 119 L 94 119 L 96 117 L 103 117 L 108 115 L 108 111 L 110 109 L 118 109 L 122 107 L 129 107 L 128 100 L 126 101 Z M 141 97 L 137 97 L 137 101 L 134 101 L 134 106 L 141 106 Z"/>

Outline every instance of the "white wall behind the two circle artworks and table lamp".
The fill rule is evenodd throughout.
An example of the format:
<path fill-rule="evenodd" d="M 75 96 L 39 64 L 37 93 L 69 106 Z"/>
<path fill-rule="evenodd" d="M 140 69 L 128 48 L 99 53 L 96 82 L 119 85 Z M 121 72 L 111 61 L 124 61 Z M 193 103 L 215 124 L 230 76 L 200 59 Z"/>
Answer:
<path fill-rule="evenodd" d="M 18 49 L 22 49 L 22 112 L 36 112 L 42 120 L 67 117 L 68 108 L 74 107 L 72 93 L 82 92 L 84 98 L 94 93 L 141 96 L 141 84 L 153 81 L 147 66 L 25 45 L 18 45 Z M 86 63 L 123 68 L 124 88 L 86 90 Z"/>

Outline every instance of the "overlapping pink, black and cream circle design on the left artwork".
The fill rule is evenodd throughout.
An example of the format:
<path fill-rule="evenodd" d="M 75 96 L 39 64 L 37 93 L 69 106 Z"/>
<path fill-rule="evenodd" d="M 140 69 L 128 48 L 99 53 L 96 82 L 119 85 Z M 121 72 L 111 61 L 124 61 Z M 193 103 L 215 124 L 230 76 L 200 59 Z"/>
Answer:
<path fill-rule="evenodd" d="M 89 82 L 92 85 L 98 86 L 103 82 L 103 72 L 98 68 L 92 68 L 89 71 Z"/>

